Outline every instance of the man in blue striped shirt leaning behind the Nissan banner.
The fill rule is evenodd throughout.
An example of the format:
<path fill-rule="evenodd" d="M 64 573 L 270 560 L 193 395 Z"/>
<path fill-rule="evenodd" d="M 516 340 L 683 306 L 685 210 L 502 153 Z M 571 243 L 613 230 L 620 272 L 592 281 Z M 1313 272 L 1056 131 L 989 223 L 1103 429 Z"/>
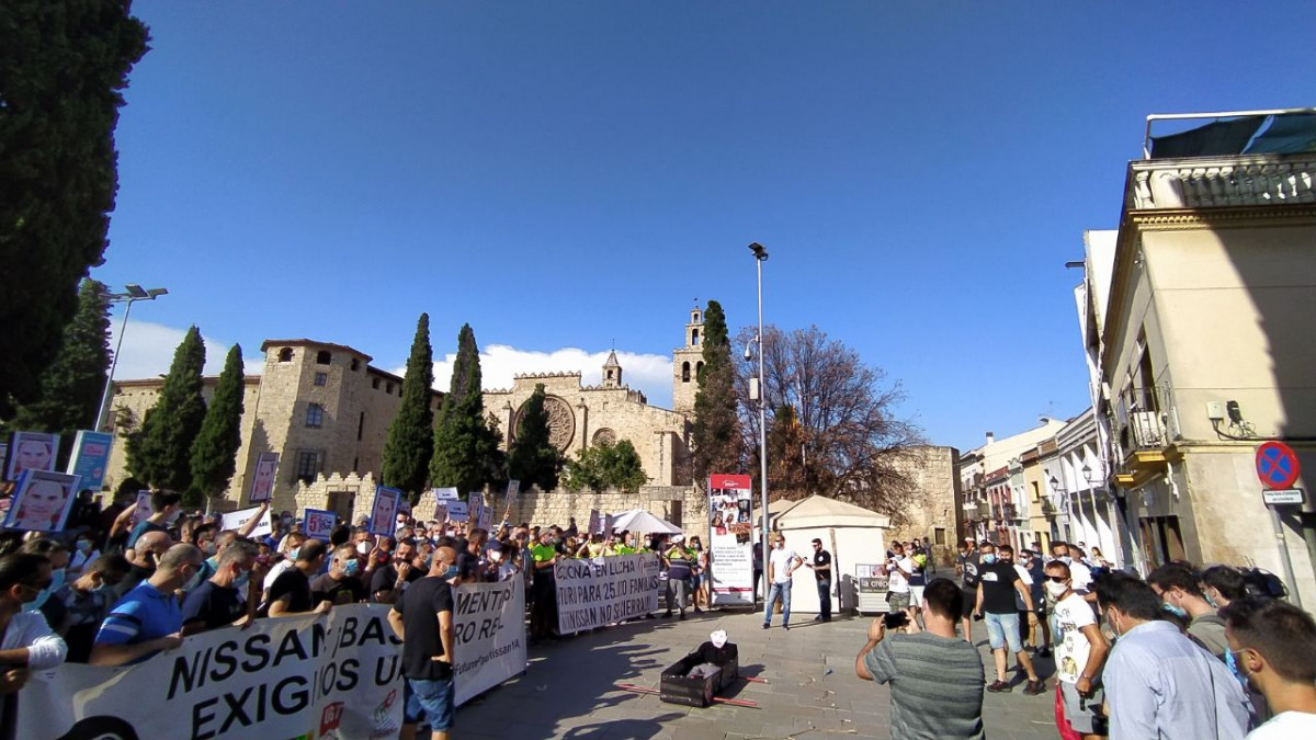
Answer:
<path fill-rule="evenodd" d="M 205 556 L 196 545 L 174 545 L 161 557 L 155 573 L 109 610 L 96 633 L 89 665 L 126 665 L 183 644 L 183 612 L 174 591 L 201 568 Z"/>

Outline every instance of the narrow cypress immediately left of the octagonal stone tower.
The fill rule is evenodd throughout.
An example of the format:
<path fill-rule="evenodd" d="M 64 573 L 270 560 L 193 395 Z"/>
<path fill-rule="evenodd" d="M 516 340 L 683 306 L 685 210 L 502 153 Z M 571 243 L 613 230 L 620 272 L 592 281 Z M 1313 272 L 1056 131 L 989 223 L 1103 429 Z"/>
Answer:
<path fill-rule="evenodd" d="M 237 470 L 242 445 L 242 348 L 233 345 L 205 410 L 201 432 L 192 442 L 192 486 L 205 496 L 222 495 Z"/>

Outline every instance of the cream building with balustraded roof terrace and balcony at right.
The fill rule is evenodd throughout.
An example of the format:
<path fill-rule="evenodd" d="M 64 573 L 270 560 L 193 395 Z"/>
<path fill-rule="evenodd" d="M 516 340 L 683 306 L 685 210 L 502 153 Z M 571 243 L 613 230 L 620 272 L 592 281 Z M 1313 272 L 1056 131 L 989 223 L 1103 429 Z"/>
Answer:
<path fill-rule="evenodd" d="M 1275 149 L 1266 130 L 1255 142 Z M 1119 229 L 1084 240 L 1078 305 L 1109 485 L 1146 566 L 1255 562 L 1283 575 L 1254 473 L 1257 448 L 1283 440 L 1308 470 L 1296 482 L 1307 503 L 1280 507 L 1279 520 L 1309 606 L 1316 153 L 1255 142 L 1130 162 Z"/>

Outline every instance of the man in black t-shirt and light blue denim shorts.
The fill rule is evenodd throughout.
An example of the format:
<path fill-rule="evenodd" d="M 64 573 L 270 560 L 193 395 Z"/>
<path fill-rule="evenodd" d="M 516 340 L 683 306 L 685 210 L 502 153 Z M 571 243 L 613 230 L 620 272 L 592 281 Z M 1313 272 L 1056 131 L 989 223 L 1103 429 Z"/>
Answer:
<path fill-rule="evenodd" d="M 1015 594 L 1024 600 L 1028 610 L 1029 623 L 1037 621 L 1033 611 L 1033 596 L 1015 570 L 1013 562 L 998 560 L 996 548 L 991 542 L 983 542 L 978 552 L 980 566 L 978 569 L 978 599 L 974 602 L 974 611 L 987 620 L 987 639 L 991 641 L 992 657 L 996 660 L 996 681 L 987 686 L 988 691 L 1009 691 L 1012 686 L 1005 681 L 1005 647 L 1015 653 L 1019 665 L 1028 673 L 1028 686 L 1025 694 L 1041 694 L 1046 689 L 1037 672 L 1033 670 L 1033 661 L 1024 652 L 1024 643 L 1019 639 L 1019 611 L 1015 608 Z"/>

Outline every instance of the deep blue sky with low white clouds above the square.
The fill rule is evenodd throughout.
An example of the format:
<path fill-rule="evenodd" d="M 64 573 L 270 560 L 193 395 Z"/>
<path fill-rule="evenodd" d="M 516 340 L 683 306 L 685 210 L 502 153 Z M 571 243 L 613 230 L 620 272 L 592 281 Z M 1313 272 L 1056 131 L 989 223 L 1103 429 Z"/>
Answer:
<path fill-rule="evenodd" d="M 488 384 L 609 346 L 651 403 L 697 296 L 817 324 L 936 444 L 1087 404 L 1071 290 L 1148 113 L 1311 105 L 1313 3 L 142 1 L 93 277 L 167 286 L 116 377 L 265 338 Z M 496 345 L 496 346 L 495 346 Z M 250 366 L 250 365 L 249 365 Z M 442 369 L 441 369 L 442 370 Z M 446 386 L 446 381 L 441 381 Z"/>

